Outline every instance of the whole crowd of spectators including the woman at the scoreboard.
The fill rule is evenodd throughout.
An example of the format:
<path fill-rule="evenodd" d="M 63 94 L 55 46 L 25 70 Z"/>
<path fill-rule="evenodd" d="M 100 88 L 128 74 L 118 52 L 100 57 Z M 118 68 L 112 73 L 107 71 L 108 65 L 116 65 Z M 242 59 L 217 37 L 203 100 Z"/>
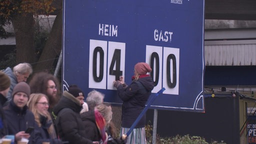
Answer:
<path fill-rule="evenodd" d="M 111 105 L 103 101 L 103 93 L 93 89 L 85 94 L 76 84 L 61 92 L 54 75 L 45 71 L 32 73 L 31 65 L 26 62 L 0 70 L 0 138 L 13 135 L 12 143 L 25 139 L 29 144 L 145 144 L 145 116 L 130 135 L 122 137 L 122 134 L 151 94 L 153 80 L 147 74 L 150 71 L 147 63 L 138 62 L 130 85 L 122 76 L 113 82 L 123 101 L 117 137 L 111 121 Z"/>

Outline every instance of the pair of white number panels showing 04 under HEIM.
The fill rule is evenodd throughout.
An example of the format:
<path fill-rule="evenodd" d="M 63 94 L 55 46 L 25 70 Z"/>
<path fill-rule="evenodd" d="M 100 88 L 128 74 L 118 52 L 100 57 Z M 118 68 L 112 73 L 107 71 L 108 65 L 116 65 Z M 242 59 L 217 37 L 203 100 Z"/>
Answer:
<path fill-rule="evenodd" d="M 89 47 L 89 88 L 116 89 L 113 81 L 124 75 L 125 43 L 90 39 Z"/>

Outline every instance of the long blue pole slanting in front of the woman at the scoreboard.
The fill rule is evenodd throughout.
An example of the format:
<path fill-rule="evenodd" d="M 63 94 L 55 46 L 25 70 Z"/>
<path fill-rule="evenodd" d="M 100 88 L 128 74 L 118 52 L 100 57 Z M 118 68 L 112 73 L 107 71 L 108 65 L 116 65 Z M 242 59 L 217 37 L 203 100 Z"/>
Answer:
<path fill-rule="evenodd" d="M 161 94 L 163 91 L 165 90 L 164 87 L 162 87 L 162 89 L 160 89 L 157 93 L 155 93 L 155 95 L 153 95 L 153 97 L 151 99 L 149 99 L 147 105 L 144 107 L 144 109 L 140 112 L 140 114 L 138 115 L 138 117 L 136 118 L 136 120 L 132 123 L 132 125 L 130 126 L 130 129 L 127 131 L 126 136 L 129 136 L 129 134 L 131 133 L 131 131 L 133 130 L 133 128 L 137 125 L 138 121 L 141 119 L 141 117 L 145 114 L 146 110 L 148 109 L 148 107 L 152 104 L 152 102 L 155 100 L 155 98 Z"/>

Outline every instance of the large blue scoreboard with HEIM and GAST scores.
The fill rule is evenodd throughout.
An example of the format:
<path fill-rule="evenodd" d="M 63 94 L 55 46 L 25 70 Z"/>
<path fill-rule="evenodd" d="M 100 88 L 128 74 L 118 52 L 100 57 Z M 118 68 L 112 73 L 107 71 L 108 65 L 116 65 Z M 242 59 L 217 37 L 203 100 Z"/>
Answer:
<path fill-rule="evenodd" d="M 151 108 L 204 111 L 204 0 L 64 0 L 63 88 L 77 84 L 121 104 L 113 81 L 147 62 Z"/>

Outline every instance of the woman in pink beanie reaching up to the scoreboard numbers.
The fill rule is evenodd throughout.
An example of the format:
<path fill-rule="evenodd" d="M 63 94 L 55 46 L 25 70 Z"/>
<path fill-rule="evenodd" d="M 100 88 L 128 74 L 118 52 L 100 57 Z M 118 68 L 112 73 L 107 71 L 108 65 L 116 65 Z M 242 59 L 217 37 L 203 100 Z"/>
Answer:
<path fill-rule="evenodd" d="M 120 81 L 114 81 L 118 95 L 122 102 L 122 123 L 120 135 L 127 133 L 129 127 L 136 120 L 144 109 L 145 103 L 154 87 L 153 79 L 147 72 L 151 71 L 150 65 L 145 62 L 138 62 L 134 65 L 134 75 L 130 85 L 126 85 L 123 77 Z M 132 132 L 127 137 L 126 143 L 146 144 L 145 139 L 145 115 L 138 121 Z"/>

